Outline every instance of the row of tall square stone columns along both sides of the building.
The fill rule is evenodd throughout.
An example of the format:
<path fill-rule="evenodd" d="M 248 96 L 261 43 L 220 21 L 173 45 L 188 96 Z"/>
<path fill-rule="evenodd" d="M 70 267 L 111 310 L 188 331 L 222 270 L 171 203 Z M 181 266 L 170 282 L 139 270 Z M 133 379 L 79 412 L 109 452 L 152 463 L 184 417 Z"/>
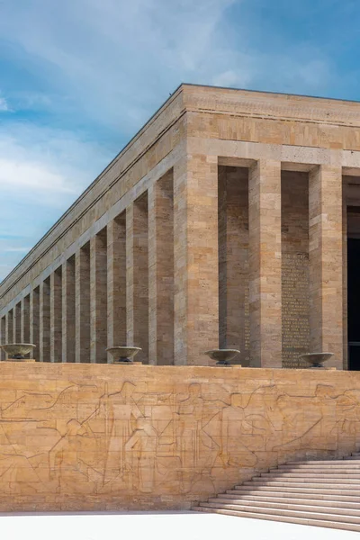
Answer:
<path fill-rule="evenodd" d="M 1 319 L 2 342 L 33 342 L 40 362 L 105 363 L 106 347 L 127 343 L 142 347 L 143 363 L 206 364 L 203 351 L 219 347 L 226 284 L 219 262 L 228 257 L 219 233 L 219 163 L 195 153 L 176 161 L 14 303 Z M 250 364 L 281 367 L 282 164 L 266 157 L 242 166 Z M 310 348 L 334 352 L 333 365 L 342 368 L 342 169 L 308 170 Z M 227 345 L 220 330 L 220 346 Z"/>

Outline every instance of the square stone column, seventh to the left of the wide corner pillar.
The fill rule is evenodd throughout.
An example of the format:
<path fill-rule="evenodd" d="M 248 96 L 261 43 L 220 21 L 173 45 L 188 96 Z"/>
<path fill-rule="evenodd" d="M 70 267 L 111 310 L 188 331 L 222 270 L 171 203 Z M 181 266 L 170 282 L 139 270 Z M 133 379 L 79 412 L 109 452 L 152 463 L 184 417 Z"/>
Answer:
<path fill-rule="evenodd" d="M 50 361 L 62 361 L 61 266 L 50 275 Z"/>

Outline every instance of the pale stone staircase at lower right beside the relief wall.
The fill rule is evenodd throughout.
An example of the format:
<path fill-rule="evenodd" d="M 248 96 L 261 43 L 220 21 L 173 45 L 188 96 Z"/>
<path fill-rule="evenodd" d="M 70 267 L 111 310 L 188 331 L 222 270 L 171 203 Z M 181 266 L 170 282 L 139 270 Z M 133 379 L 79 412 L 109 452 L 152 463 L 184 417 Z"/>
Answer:
<path fill-rule="evenodd" d="M 193 510 L 360 532 L 360 452 L 289 462 Z"/>

